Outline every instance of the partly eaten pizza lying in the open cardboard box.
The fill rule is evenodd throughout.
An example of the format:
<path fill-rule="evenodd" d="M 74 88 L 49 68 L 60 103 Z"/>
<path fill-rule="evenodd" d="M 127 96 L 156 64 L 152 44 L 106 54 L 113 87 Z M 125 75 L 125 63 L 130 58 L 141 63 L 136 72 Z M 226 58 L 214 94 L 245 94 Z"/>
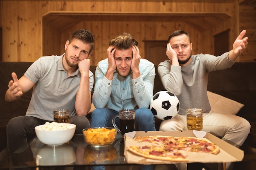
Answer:
<path fill-rule="evenodd" d="M 129 146 L 130 152 L 142 157 L 166 160 L 188 161 L 184 152 L 209 153 L 217 155 L 220 148 L 204 138 L 197 137 L 172 137 L 172 136 L 142 136 L 133 140 L 148 142 L 144 146 Z"/>

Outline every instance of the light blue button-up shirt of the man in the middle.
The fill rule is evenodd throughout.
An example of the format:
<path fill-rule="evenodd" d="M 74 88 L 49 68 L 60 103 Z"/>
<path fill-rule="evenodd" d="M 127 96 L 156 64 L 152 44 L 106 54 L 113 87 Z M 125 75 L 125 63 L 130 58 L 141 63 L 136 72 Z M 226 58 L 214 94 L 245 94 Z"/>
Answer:
<path fill-rule="evenodd" d="M 120 76 L 116 71 L 110 81 L 105 77 L 108 70 L 108 59 L 100 61 L 95 70 L 95 86 L 92 102 L 96 108 L 107 108 L 115 111 L 120 109 L 148 108 L 153 97 L 155 80 L 154 64 L 146 59 L 140 59 L 141 76 L 132 79 Z"/>

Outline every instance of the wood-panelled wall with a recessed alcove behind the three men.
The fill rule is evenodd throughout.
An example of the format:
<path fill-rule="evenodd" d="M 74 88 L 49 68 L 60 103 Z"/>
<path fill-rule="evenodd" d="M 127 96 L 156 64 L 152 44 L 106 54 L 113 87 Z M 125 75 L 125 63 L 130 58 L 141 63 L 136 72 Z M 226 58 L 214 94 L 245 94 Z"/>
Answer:
<path fill-rule="evenodd" d="M 86 28 L 95 37 L 91 65 L 107 57 L 108 41 L 123 32 L 139 41 L 142 58 L 145 40 L 166 40 L 177 29 L 191 35 L 193 54 L 213 54 L 213 36 L 227 29 L 230 49 L 242 29 L 249 28 L 247 36 L 255 39 L 255 3 L 245 3 L 241 9 L 241 0 L 191 1 L 0 0 L 2 60 L 35 61 L 43 55 L 62 54 L 65 41 L 77 28 Z M 244 13 L 246 8 L 252 13 Z M 240 13 L 248 21 L 246 24 L 243 19 L 242 28 Z M 246 59 L 241 57 L 240 61 L 254 60 L 256 43 L 250 43 L 244 53 Z"/>

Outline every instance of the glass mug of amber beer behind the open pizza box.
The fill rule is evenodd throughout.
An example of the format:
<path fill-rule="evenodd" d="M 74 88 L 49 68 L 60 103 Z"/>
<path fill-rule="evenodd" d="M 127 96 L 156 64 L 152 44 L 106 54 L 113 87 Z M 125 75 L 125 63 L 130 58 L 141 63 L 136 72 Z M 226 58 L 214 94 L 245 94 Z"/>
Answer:
<path fill-rule="evenodd" d="M 189 130 L 203 129 L 203 109 L 186 109 L 186 125 Z"/>

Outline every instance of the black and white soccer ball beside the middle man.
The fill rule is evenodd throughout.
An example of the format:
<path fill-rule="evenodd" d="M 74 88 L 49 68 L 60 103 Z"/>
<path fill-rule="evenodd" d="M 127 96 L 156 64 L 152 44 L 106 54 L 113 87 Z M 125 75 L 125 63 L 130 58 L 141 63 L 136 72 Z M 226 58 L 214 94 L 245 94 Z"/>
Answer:
<path fill-rule="evenodd" d="M 156 118 L 167 120 L 178 114 L 180 101 L 175 94 L 168 91 L 160 91 L 150 100 L 149 107 Z"/>

